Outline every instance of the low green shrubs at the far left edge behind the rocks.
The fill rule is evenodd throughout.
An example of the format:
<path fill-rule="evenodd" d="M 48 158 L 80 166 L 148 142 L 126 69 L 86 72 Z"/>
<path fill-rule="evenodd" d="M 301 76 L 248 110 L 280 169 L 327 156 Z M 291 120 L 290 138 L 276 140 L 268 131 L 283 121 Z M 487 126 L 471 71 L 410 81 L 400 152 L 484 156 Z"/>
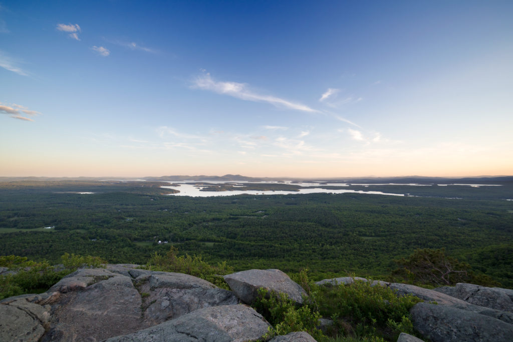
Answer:
<path fill-rule="evenodd" d="M 100 267 L 105 260 L 97 256 L 64 254 L 62 267 L 51 266 L 48 261 L 32 261 L 25 256 L 0 256 L 0 267 L 12 273 L 0 275 L 0 299 L 26 293 L 41 293 L 79 267 Z"/>

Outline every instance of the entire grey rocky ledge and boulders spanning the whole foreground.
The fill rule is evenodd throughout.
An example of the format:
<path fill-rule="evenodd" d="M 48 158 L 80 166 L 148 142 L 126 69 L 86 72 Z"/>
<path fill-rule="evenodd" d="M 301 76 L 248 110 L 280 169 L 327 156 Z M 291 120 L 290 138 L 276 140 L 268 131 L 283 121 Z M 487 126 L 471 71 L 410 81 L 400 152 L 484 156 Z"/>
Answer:
<path fill-rule="evenodd" d="M 226 275 L 232 291 L 182 273 L 155 272 L 137 265 L 79 269 L 42 294 L 0 300 L 0 341 L 242 341 L 258 339 L 269 324 L 252 308 L 259 288 L 285 293 L 298 305 L 304 290 L 279 270 L 249 270 Z M 352 284 L 365 278 L 341 277 L 325 286 Z M 413 326 L 426 339 L 511 340 L 513 290 L 472 284 L 428 290 L 417 286 L 372 281 L 425 300 L 410 311 Z M 438 305 L 432 304 L 436 301 Z M 428 303 L 431 302 L 431 303 Z M 479 305 L 476 305 L 479 304 Z M 332 320 L 320 319 L 326 330 Z M 305 332 L 276 336 L 271 341 L 308 341 Z M 418 342 L 401 334 L 400 342 Z"/>

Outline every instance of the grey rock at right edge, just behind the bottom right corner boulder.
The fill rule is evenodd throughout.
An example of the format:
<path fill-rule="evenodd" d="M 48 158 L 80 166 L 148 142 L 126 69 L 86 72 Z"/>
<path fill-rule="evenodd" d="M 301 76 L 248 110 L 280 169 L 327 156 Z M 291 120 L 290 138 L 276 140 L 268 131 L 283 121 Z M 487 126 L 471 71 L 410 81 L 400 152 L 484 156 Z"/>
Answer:
<path fill-rule="evenodd" d="M 473 305 L 513 313 L 513 290 L 458 283 L 455 287 L 444 286 L 435 291 Z"/>

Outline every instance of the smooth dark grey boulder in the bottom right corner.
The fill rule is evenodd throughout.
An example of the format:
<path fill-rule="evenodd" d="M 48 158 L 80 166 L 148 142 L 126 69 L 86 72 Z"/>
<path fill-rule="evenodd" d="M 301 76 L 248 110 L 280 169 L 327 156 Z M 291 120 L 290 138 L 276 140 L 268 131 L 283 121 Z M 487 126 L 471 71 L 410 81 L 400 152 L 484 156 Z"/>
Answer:
<path fill-rule="evenodd" d="M 418 303 L 410 310 L 413 327 L 432 342 L 511 342 L 513 325 L 445 305 Z"/>

